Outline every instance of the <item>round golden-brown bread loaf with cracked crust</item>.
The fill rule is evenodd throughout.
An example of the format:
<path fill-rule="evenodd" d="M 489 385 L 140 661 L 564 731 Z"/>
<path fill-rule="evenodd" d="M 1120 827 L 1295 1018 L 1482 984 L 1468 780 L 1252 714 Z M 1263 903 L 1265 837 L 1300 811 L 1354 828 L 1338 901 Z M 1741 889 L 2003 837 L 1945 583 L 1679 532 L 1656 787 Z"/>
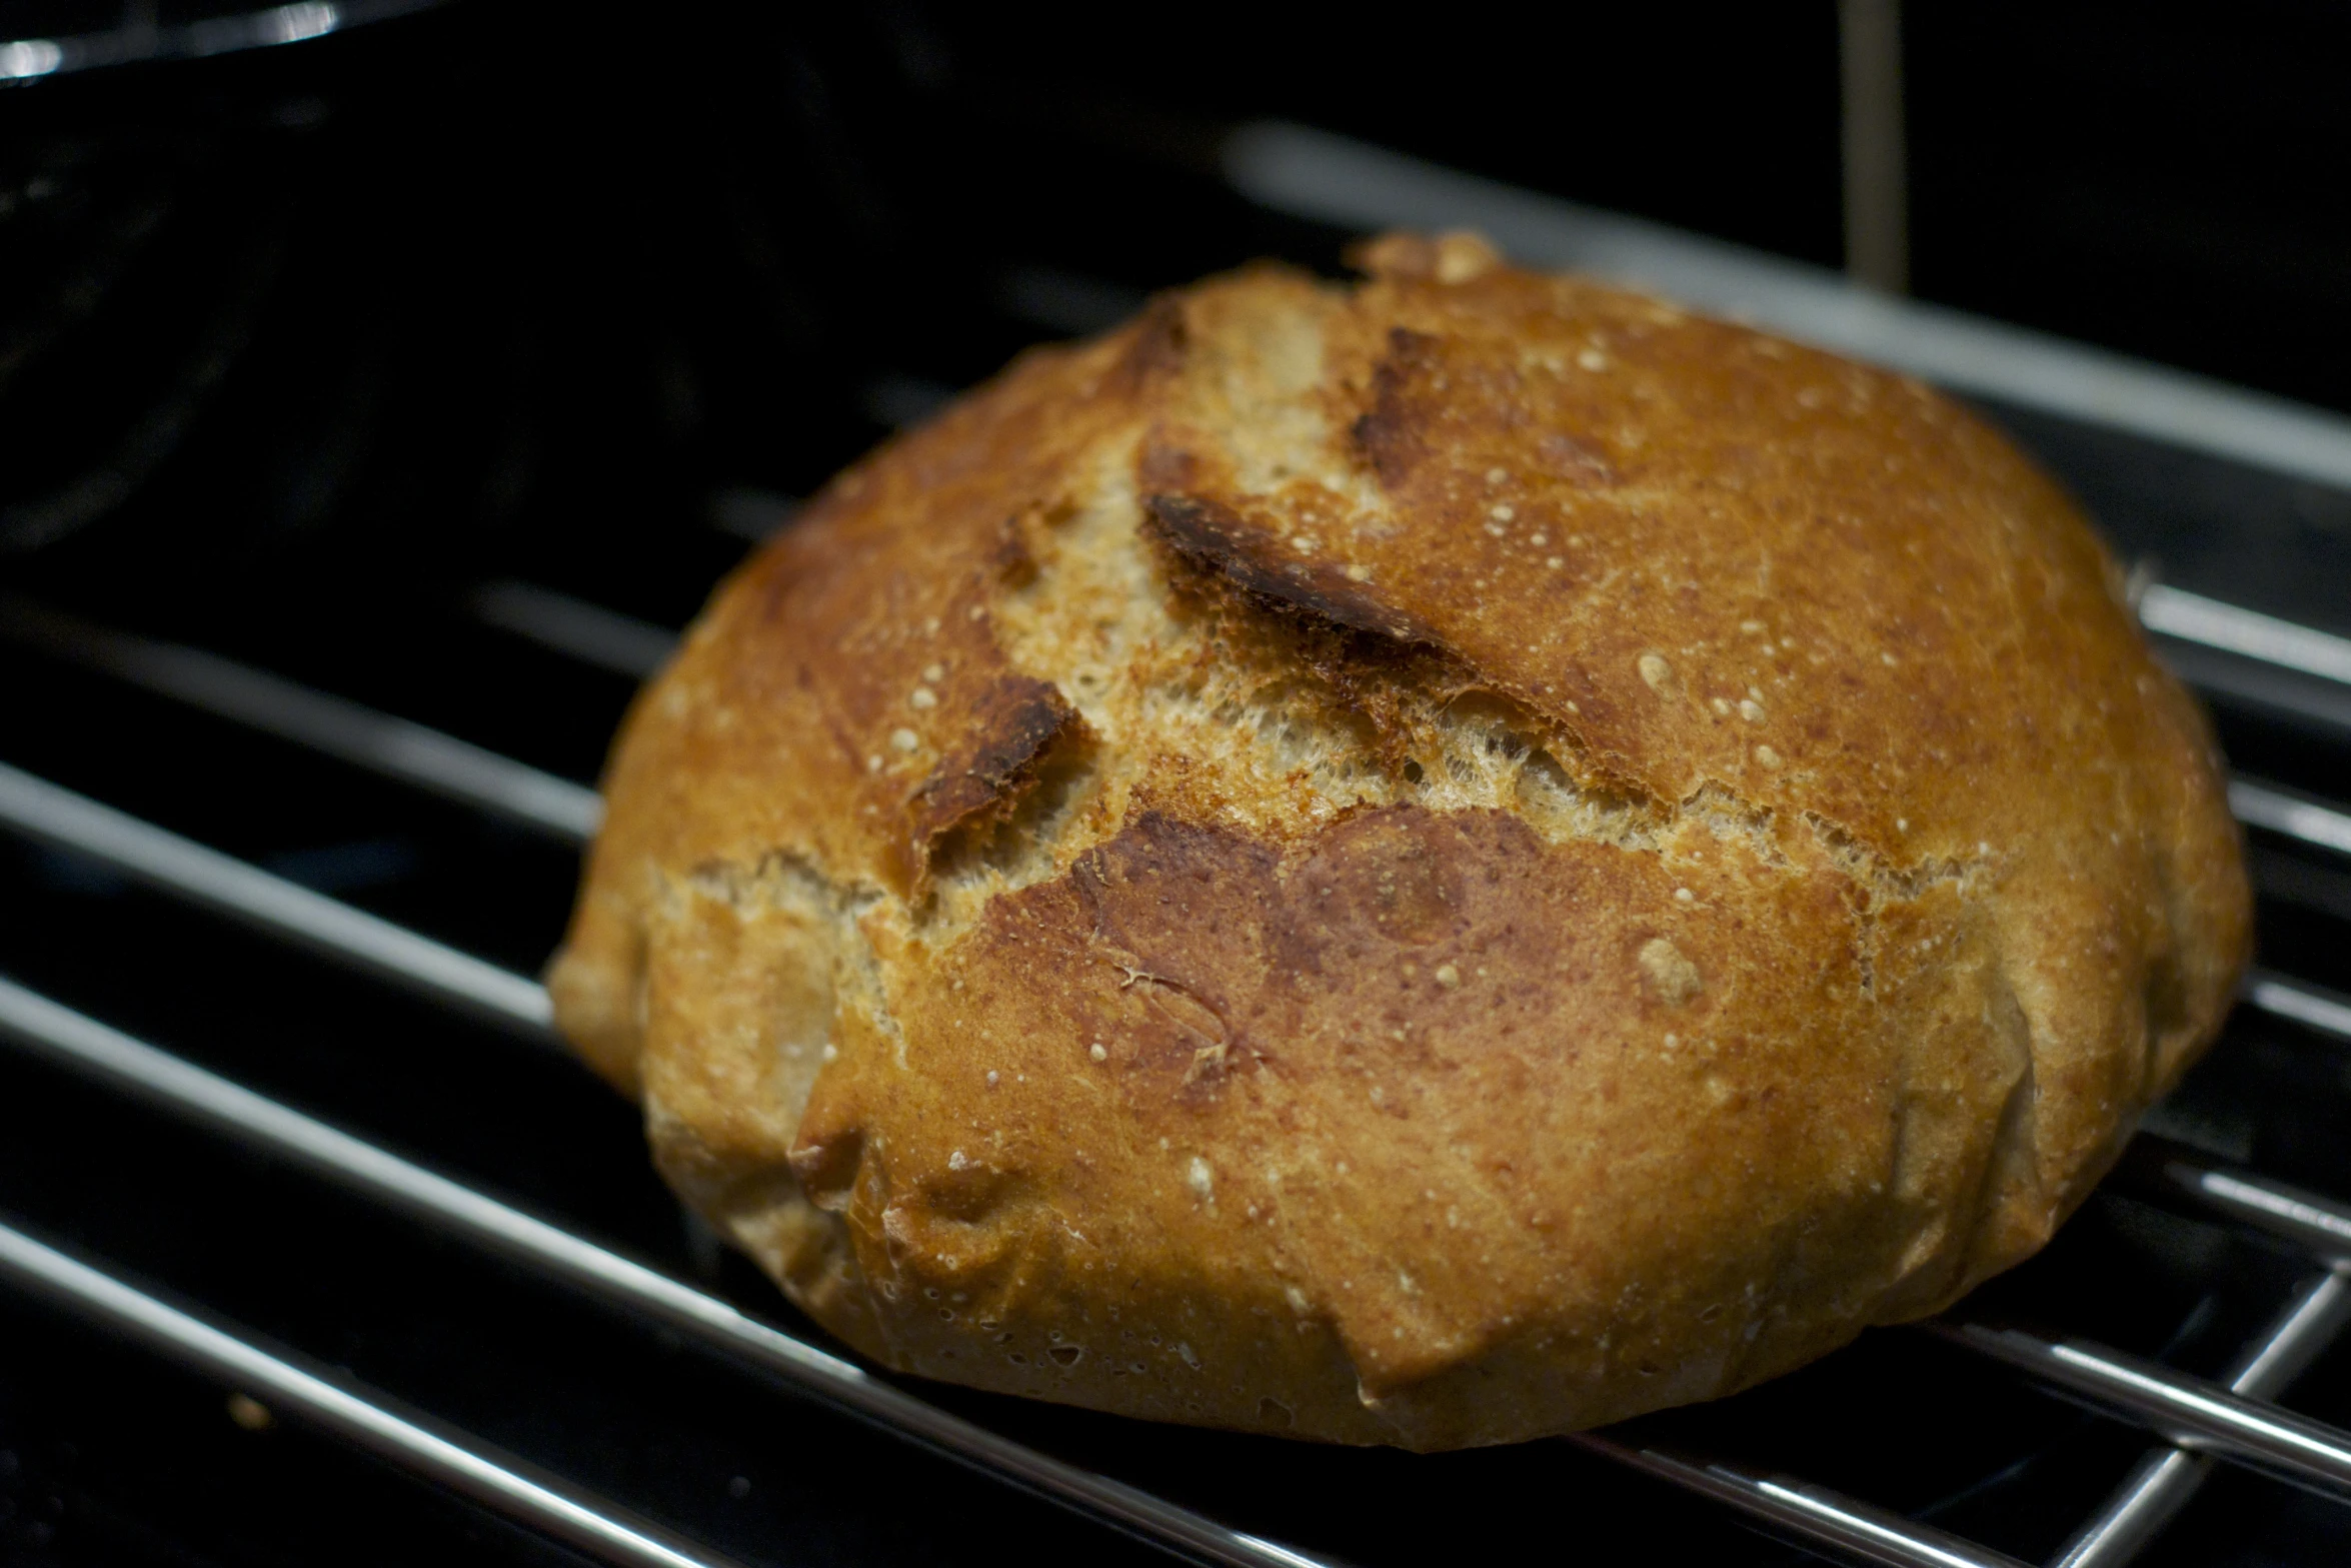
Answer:
<path fill-rule="evenodd" d="M 2038 1248 L 2248 945 L 2076 508 L 1916 381 L 1396 235 L 1037 350 L 642 693 L 550 985 L 884 1366 L 1451 1448 Z"/>

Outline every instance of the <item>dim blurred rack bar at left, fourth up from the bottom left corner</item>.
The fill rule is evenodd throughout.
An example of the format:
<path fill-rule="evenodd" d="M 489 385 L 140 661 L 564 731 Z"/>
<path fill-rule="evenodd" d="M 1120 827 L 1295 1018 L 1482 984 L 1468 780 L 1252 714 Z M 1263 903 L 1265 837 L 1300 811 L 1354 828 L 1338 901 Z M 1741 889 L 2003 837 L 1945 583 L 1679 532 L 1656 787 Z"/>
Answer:
<path fill-rule="evenodd" d="M 585 785 L 219 654 L 118 632 L 28 599 L 0 602 L 0 628 L 16 642 L 141 691 L 341 757 L 567 844 L 585 844 L 604 820 L 604 802 Z"/>

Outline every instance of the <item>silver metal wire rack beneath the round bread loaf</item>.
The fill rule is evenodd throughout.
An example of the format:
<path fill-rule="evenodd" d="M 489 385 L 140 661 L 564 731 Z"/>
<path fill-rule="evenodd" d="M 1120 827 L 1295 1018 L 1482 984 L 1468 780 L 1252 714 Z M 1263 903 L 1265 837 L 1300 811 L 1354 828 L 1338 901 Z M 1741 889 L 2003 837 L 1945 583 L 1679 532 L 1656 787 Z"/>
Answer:
<path fill-rule="evenodd" d="M 1469 195 L 1476 200 L 1469 205 L 1483 202 L 1483 209 L 1460 212 L 1467 200 L 1465 186 L 1446 186 L 1418 167 L 1408 169 L 1411 179 L 1401 183 L 1394 179 L 1396 169 L 1387 167 L 1385 188 L 1357 165 L 1326 165 L 1319 174 L 1312 167 L 1300 172 L 1298 160 L 1312 153 L 1314 143 L 1300 143 L 1295 136 L 1284 143 L 1277 132 L 1279 127 L 1258 127 L 1230 150 L 1234 183 L 1260 202 L 1284 207 L 1288 200 L 1284 193 L 1305 190 L 1312 200 L 1288 200 L 1298 216 L 1345 223 L 1444 223 L 1483 216 L 1486 228 L 1502 233 L 1505 240 L 1516 237 L 1542 259 L 1592 261 L 1589 249 L 1578 252 L 1575 244 L 1559 240 L 1578 233 L 1589 237 L 1589 223 L 1578 230 L 1578 221 L 1592 214 L 1545 207 L 1538 197 L 1519 193 L 1498 195 L 1493 188 L 1472 188 Z M 1331 146 L 1321 150 L 1331 158 L 1361 153 L 1349 148 L 1333 153 Z M 1331 190 L 1345 193 L 1345 200 L 1331 197 Z M 1519 219 L 1531 212 L 1542 216 L 1549 223 L 1542 233 L 1556 242 L 1531 244 L 1526 221 L 1519 230 L 1512 230 L 1514 219 L 1507 214 L 1498 221 L 1493 205 L 1502 197 Z M 1822 299 L 1817 289 L 1827 287 L 1817 280 L 1796 280 L 1801 287 L 1789 296 L 1787 268 L 1740 273 L 1737 259 L 1726 261 L 1719 247 L 1693 247 L 1672 235 L 1646 233 L 1634 240 L 1648 249 L 1641 244 L 1625 249 L 1629 244 L 1625 235 L 1608 233 L 1617 244 L 1603 259 L 1610 263 L 1608 270 L 1681 277 L 1679 292 L 1697 296 L 1700 303 L 1721 303 L 1728 289 L 1742 308 L 1766 320 L 1773 320 L 1773 301 L 1787 306 L 1796 299 L 1803 308 L 1787 306 L 1784 315 L 1791 320 L 1782 322 L 1794 331 L 1810 327 L 1806 336 L 1843 341 L 1876 357 L 1916 362 L 1930 371 L 1942 369 L 1947 378 L 2029 414 L 2074 421 L 2090 430 L 2125 430 L 2132 440 L 2161 440 L 2205 458 L 2285 473 L 2297 482 L 2339 484 L 2351 475 L 2351 430 L 2327 416 L 2278 411 L 2259 400 L 2186 386 L 2184 378 L 2158 371 L 2118 369 L 2104 360 L 2092 364 L 2097 376 L 2069 381 L 2067 369 L 2078 371 L 2088 360 L 2069 360 L 2062 346 L 2020 343 L 2017 334 L 2005 329 L 1977 329 L 1947 317 L 1925 320 L 1921 313 L 1904 315 L 1911 308 L 1886 301 L 1846 301 L 1869 331 L 1862 341 L 1855 341 L 1857 329 L 1838 339 L 1838 329 L 1824 329 L 1820 324 L 1824 317 L 1813 310 Z M 1681 273 L 1674 270 L 1697 249 L 1704 249 L 1707 263 L 1716 268 L 1709 273 L 1714 284 L 1686 266 Z M 1721 270 L 1726 266 L 1728 273 Z M 1709 287 L 1716 287 L 1714 296 L 1707 294 Z M 1756 308 L 1756 301 L 1766 308 Z M 1909 336 L 1904 322 L 1914 329 Z M 1970 339 L 1970 331 L 1977 336 Z M 1970 346 L 1984 353 L 2015 350 L 2041 374 L 2020 378 L 2005 371 L 1965 371 L 1963 350 Z M 1991 362 L 1998 362 L 1996 353 Z M 2203 418 L 2193 418 L 2198 411 Z M 741 510 L 722 508 L 719 527 L 745 531 Z M 463 602 L 463 614 L 477 628 L 536 644 L 583 670 L 632 677 L 651 670 L 672 637 L 668 628 L 520 581 L 480 583 Z M 2335 766 L 2351 759 L 2351 639 L 2168 583 L 2144 585 L 2139 614 L 2165 654 L 2215 703 L 2292 729 L 2299 736 L 2297 745 L 2304 748 L 2292 752 L 2297 757 L 2316 755 Z M 331 769 L 348 769 L 353 778 L 374 776 L 386 780 L 386 788 L 433 795 L 454 811 L 480 813 L 564 849 L 583 844 L 597 823 L 597 799 L 581 783 L 219 651 L 101 625 L 31 599 L 0 604 L 0 630 L 12 639 L 14 658 L 26 672 L 78 670 L 80 677 L 179 708 L 190 724 L 219 724 L 223 733 L 259 731 L 296 752 L 324 759 Z M 106 766 L 92 771 L 101 776 L 96 795 L 106 795 Z M 2344 912 L 2330 907 L 2327 898 L 2335 896 L 2330 889 L 2337 889 L 2332 879 L 2351 872 L 2351 806 L 2309 788 L 2311 776 L 2325 769 L 2299 771 L 2302 788 L 2238 776 L 2229 799 L 2264 849 L 2257 860 L 2269 900 L 2264 907 L 2316 907 L 2320 919 L 2342 919 Z M 489 1023 L 484 1051 L 557 1048 L 548 1034 L 545 992 L 529 976 L 383 912 L 303 886 L 289 872 L 172 832 L 96 795 L 63 788 L 35 771 L 0 766 L 0 827 L 61 851 L 73 865 L 103 867 L 106 875 L 134 879 L 205 917 L 242 922 L 270 943 L 303 947 L 357 971 L 360 980 L 336 990 L 346 1006 L 364 1009 L 369 1006 L 364 987 L 388 985 L 433 1009 Z M 2325 938 L 2332 926 L 2318 931 Z M 5 966 L 14 961 L 0 954 L 0 969 Z M 2299 971 L 2255 973 L 2243 997 L 2241 1020 L 2245 1018 L 2266 1020 L 2283 1032 L 2290 1051 L 2323 1058 L 2351 1048 L 2351 1001 Z M 569 1220 L 545 1218 L 494 1197 L 496 1182 L 477 1178 L 458 1159 L 437 1159 L 430 1166 L 414 1161 L 14 980 L 0 980 L 0 1034 L 14 1051 L 75 1074 L 108 1095 L 139 1100 L 197 1128 L 205 1138 L 240 1145 L 284 1173 L 299 1173 L 299 1180 L 341 1187 L 433 1237 L 480 1248 L 531 1279 L 616 1309 L 637 1328 L 672 1335 L 764 1382 L 813 1396 L 1178 1556 L 1246 1568 L 1338 1561 L 1314 1540 L 1272 1540 L 1225 1523 L 1208 1509 L 1178 1502 L 1168 1495 L 1173 1488 L 1164 1486 L 1168 1476 L 1110 1474 L 1053 1453 L 1049 1443 L 1039 1446 L 997 1429 L 962 1408 L 950 1408 L 952 1399 L 926 1396 L 870 1373 L 799 1331 L 769 1321 L 764 1312 L 745 1309 L 719 1288 L 689 1284 L 677 1272 L 597 1241 Z M 2229 1048 L 2226 1041 L 2219 1046 Z M 2351 1324 L 2351 1201 L 2302 1192 L 2229 1159 L 2226 1135 L 2201 1138 L 2198 1133 L 2208 1128 L 2193 1124 L 2161 1126 L 2179 1138 L 2144 1133 L 2116 1175 L 2116 1192 L 2135 1204 L 2262 1237 L 2285 1248 L 2285 1255 L 2299 1258 L 2299 1267 L 2292 1269 L 2299 1276 L 2273 1298 L 2273 1319 L 2245 1335 L 2231 1361 L 2210 1375 L 2198 1375 L 2092 1338 L 1977 1316 L 1968 1302 L 1944 1321 L 1902 1331 L 1914 1340 L 1933 1340 L 1942 1354 L 1975 1363 L 1980 1373 L 1970 1378 L 1989 1385 L 2017 1378 L 2142 1434 L 2144 1458 L 2128 1469 L 2111 1495 L 2104 1502 L 2095 1495 L 2081 1500 L 2076 1509 L 2081 1523 L 2050 1559 L 2067 1568 L 2114 1568 L 2132 1559 L 2156 1542 L 2196 1490 L 2224 1467 L 2259 1472 L 2351 1502 L 2351 1432 L 2299 1415 L 2278 1401 Z M 320 1356 L 275 1347 L 202 1302 L 181 1302 L 134 1284 L 125 1269 L 101 1258 L 75 1255 L 56 1246 L 54 1237 L 33 1234 L 31 1227 L 0 1225 L 0 1276 L 578 1552 L 618 1563 L 729 1561 L 722 1552 L 696 1544 L 691 1533 L 649 1523 L 588 1486 L 404 1408 Z M 1561 1448 L 1641 1472 L 1730 1509 L 1803 1549 L 1836 1559 L 1904 1568 L 2020 1561 L 1900 1509 L 1780 1474 L 1768 1460 L 1759 1465 L 1749 1458 L 1690 1453 L 1643 1432 L 1582 1434 L 1566 1439 Z M 1568 1453 L 1559 1453 L 1559 1465 L 1573 1462 Z M 2351 1540 L 2351 1516 L 2342 1540 Z"/>

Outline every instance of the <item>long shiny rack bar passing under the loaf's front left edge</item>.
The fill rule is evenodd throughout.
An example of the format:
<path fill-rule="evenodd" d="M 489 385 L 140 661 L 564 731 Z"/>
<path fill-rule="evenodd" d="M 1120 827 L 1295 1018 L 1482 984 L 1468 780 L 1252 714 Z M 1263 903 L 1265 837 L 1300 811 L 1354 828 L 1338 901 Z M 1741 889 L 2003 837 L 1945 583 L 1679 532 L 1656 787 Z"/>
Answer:
<path fill-rule="evenodd" d="M 0 1034 L 52 1063 L 200 1121 L 247 1147 L 296 1161 L 475 1246 L 515 1258 L 576 1291 L 656 1319 L 889 1432 L 1187 1556 L 1234 1568 L 1317 1568 L 1331 1561 L 1234 1530 L 1124 1481 L 1004 1439 L 870 1375 L 853 1361 L 762 1324 L 717 1295 L 256 1095 L 12 980 L 0 980 Z"/>

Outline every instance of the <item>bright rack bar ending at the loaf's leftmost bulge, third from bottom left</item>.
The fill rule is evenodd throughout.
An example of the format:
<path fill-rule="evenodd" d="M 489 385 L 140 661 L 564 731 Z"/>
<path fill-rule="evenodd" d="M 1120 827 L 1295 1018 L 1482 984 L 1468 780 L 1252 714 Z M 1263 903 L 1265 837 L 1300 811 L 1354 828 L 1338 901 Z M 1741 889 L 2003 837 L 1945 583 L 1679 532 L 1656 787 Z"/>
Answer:
<path fill-rule="evenodd" d="M 193 844 L 94 799 L 0 764 L 0 825 L 233 914 L 275 936 L 444 997 L 508 1027 L 548 1037 L 538 980 L 444 947 L 256 865 Z"/>

